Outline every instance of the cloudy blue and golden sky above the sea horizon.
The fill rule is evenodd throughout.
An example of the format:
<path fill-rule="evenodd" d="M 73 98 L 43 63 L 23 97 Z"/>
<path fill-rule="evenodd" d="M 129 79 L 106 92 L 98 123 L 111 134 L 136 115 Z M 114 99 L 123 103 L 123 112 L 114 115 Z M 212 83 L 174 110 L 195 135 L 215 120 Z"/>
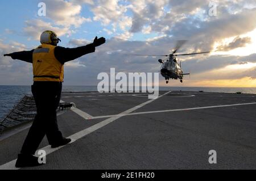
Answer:
<path fill-rule="evenodd" d="M 38 12 L 46 5 L 46 16 Z M 158 73 L 160 57 L 177 40 L 188 40 L 182 56 L 184 82 L 168 86 L 256 87 L 256 1 L 252 0 L 1 0 L 0 85 L 31 85 L 32 64 L 5 53 L 40 45 L 40 33 L 52 30 L 61 47 L 106 43 L 96 52 L 65 64 L 64 85 L 97 85 L 97 75 L 110 68 L 124 73 Z M 160 86 L 167 86 L 159 76 Z"/>

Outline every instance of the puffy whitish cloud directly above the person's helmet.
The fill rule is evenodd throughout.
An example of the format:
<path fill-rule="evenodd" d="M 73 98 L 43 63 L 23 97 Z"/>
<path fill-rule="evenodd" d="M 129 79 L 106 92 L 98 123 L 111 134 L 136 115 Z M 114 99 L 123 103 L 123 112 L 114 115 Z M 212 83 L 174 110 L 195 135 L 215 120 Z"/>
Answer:
<path fill-rule="evenodd" d="M 80 2 L 90 3 L 90 1 Z M 46 19 L 38 17 L 38 19 L 30 19 L 25 22 L 26 26 L 23 31 L 30 40 L 39 40 L 40 33 L 46 30 L 55 31 L 58 36 L 70 36 L 75 32 L 72 27 L 78 28 L 85 22 L 92 22 L 92 19 L 80 15 L 82 6 L 77 4 L 78 1 L 45 0 L 44 3 L 46 3 L 47 10 Z"/>

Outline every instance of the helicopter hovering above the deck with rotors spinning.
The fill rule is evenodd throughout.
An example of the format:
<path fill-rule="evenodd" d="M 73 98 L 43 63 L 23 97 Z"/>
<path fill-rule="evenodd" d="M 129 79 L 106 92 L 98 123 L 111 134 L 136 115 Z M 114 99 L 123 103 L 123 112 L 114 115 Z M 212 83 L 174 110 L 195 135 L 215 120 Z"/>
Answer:
<path fill-rule="evenodd" d="M 176 47 L 171 54 L 166 55 L 146 55 L 146 54 L 134 54 L 135 56 L 150 56 L 150 57 L 167 57 L 165 60 L 159 59 L 158 62 L 161 64 L 160 73 L 166 79 L 166 83 L 169 82 L 169 79 L 180 79 L 180 82 L 183 82 L 183 75 L 189 75 L 189 73 L 183 73 L 181 69 L 181 61 L 178 63 L 176 56 L 188 56 L 193 54 L 202 54 L 202 53 L 210 53 L 210 52 L 198 52 L 198 53 L 186 53 L 186 54 L 175 54 L 177 50 L 181 48 L 181 46 L 187 40 L 179 40 L 176 43 Z"/>

